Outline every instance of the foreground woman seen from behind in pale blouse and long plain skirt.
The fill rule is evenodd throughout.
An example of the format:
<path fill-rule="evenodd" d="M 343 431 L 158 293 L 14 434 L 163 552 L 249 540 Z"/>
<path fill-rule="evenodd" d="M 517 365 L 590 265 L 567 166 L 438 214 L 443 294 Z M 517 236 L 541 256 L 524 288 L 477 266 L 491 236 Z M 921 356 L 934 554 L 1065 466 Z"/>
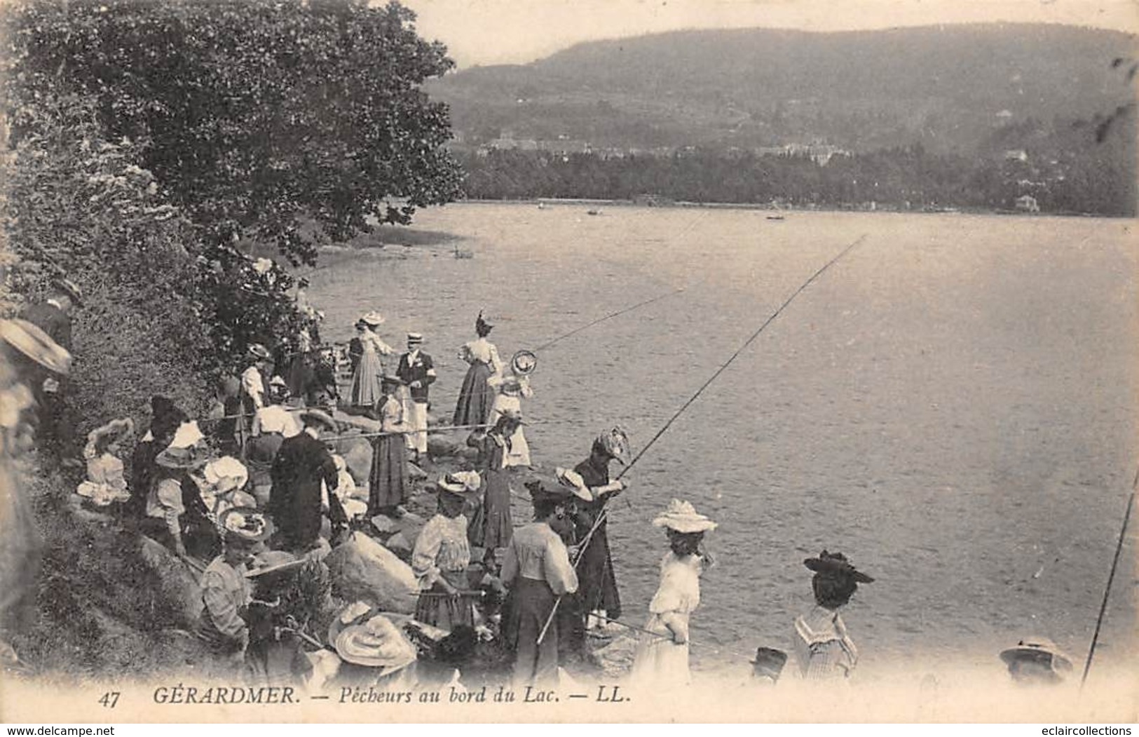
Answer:
<path fill-rule="evenodd" d="M 515 642 L 514 680 L 551 685 L 558 673 L 558 622 L 539 636 L 558 600 L 577 590 L 577 574 L 559 534 L 572 525 L 572 492 L 562 486 L 546 489 L 540 481 L 526 484 L 534 505 L 534 522 L 515 530 L 502 563 L 502 583 L 510 588 L 514 611 L 507 641 Z"/>

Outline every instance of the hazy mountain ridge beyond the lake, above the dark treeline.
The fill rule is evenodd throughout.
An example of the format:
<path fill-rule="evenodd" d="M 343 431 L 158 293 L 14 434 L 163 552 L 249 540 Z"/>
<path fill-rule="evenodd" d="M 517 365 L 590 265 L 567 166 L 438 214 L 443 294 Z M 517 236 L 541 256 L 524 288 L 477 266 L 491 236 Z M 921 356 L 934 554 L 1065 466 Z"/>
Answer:
<path fill-rule="evenodd" d="M 969 152 L 1030 118 L 1090 121 L 1129 103 L 1128 65 L 1112 62 L 1134 58 L 1136 46 L 1130 34 L 1043 24 L 681 31 L 475 67 L 427 91 L 451 105 L 470 146 Z"/>

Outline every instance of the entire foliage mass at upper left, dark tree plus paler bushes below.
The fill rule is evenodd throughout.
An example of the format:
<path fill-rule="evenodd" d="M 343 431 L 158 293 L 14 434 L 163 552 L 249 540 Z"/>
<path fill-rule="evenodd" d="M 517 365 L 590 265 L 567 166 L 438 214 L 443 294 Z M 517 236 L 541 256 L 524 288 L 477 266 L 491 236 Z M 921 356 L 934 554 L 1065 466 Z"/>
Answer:
<path fill-rule="evenodd" d="M 6 5 L 0 55 L 8 313 L 67 275 L 72 401 L 142 413 L 279 347 L 304 316 L 280 264 L 458 191 L 451 62 L 413 15 L 358 0 Z M 316 228 L 301 228 L 301 223 Z"/>

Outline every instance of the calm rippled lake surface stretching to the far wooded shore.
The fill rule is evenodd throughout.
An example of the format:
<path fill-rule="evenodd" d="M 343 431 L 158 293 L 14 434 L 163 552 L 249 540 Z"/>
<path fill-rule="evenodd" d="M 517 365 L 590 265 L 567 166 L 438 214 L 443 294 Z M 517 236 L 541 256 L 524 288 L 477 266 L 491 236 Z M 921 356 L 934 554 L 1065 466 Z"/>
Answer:
<path fill-rule="evenodd" d="M 877 579 L 844 613 L 860 678 L 939 663 L 999 675 L 995 653 L 1031 633 L 1079 672 L 1136 475 L 1136 224 L 470 203 L 408 229 L 462 240 L 330 249 L 309 292 L 328 338 L 368 309 L 394 346 L 424 331 L 449 417 L 480 309 L 509 357 L 682 288 L 539 352 L 527 439 L 536 464 L 570 466 L 613 424 L 639 451 L 865 236 L 630 472 L 631 506 L 609 523 L 622 619 L 644 622 L 666 549 L 650 521 L 677 497 L 720 522 L 697 669 L 789 649 L 812 604 L 802 560 L 827 548 Z M 1134 551 L 1129 534 L 1093 673 L 1133 666 Z"/>

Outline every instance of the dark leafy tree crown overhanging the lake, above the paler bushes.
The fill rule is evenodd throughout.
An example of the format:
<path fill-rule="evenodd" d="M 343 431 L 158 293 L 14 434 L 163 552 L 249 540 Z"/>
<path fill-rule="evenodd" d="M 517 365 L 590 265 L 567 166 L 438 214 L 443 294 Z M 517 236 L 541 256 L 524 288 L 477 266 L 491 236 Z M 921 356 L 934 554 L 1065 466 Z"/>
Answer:
<path fill-rule="evenodd" d="M 36 2 L 11 32 L 23 67 L 66 77 L 108 137 L 140 141 L 191 220 L 311 263 L 301 218 L 342 240 L 457 193 L 446 108 L 419 89 L 452 63 L 413 18 L 358 0 Z"/>

